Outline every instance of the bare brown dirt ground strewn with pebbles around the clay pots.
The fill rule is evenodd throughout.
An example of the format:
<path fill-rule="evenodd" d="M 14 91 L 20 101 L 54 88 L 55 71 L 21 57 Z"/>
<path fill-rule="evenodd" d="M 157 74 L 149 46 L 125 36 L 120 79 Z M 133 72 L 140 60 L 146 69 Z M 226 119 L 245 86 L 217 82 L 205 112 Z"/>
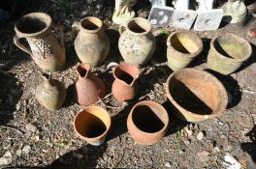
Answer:
<path fill-rule="evenodd" d="M 90 5 L 88 5 L 90 4 Z M 49 14 L 64 30 L 67 51 L 66 70 L 53 73 L 65 84 L 67 100 L 60 110 L 50 112 L 35 99 L 35 88 L 43 80 L 42 70 L 30 56 L 13 42 L 16 18 L 0 27 L 0 157 L 7 152 L 12 162 L 6 168 L 226 168 L 224 156 L 229 153 L 241 164 L 256 161 L 256 39 L 247 32 L 256 27 L 256 19 L 244 24 L 221 25 L 217 31 L 195 32 L 204 42 L 204 51 L 189 67 L 206 70 L 209 42 L 217 36 L 234 33 L 251 43 L 253 54 L 240 70 L 231 75 L 213 73 L 226 87 L 229 103 L 224 115 L 200 123 L 186 123 L 176 118 L 166 97 L 165 82 L 172 73 L 167 67 L 166 40 L 174 28 L 153 30 L 156 50 L 150 62 L 141 69 L 137 97 L 119 102 L 111 95 L 112 62 L 122 63 L 117 42 L 118 25 L 111 20 L 114 1 L 48 0 L 30 1 L 20 15 L 31 12 Z M 146 17 L 150 3 L 135 7 Z M 20 16 L 19 15 L 19 16 Z M 76 33 L 71 25 L 87 15 L 105 20 L 111 51 L 105 63 L 92 72 L 107 86 L 107 97 L 97 102 L 112 115 L 112 128 L 106 142 L 93 147 L 81 140 L 73 129 L 73 120 L 80 106 L 73 97 L 80 60 L 74 49 Z M 163 31 L 165 30 L 165 31 Z M 151 146 L 140 146 L 127 131 L 126 119 L 132 106 L 140 100 L 163 104 L 170 117 L 167 135 Z"/>

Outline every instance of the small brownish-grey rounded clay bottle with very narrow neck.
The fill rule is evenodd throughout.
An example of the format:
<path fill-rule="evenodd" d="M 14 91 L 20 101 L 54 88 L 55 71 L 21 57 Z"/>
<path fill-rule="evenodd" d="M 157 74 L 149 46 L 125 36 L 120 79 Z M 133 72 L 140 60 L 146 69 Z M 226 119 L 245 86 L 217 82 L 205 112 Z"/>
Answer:
<path fill-rule="evenodd" d="M 43 73 L 43 79 L 36 88 L 36 99 L 48 110 L 60 109 L 66 99 L 65 86 L 46 73 Z"/>

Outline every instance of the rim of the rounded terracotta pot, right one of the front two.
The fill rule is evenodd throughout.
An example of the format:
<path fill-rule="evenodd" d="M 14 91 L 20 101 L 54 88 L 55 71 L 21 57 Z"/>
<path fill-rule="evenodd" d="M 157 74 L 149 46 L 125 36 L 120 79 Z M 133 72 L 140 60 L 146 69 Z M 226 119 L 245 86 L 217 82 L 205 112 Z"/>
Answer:
<path fill-rule="evenodd" d="M 144 130 L 140 129 L 139 127 L 137 127 L 133 121 L 133 113 L 134 113 L 134 109 L 137 108 L 138 106 L 140 105 L 152 105 L 152 106 L 157 106 L 159 109 L 161 109 L 162 112 L 164 112 L 164 115 L 166 116 L 166 120 L 167 122 L 163 122 L 165 125 L 164 127 L 162 127 L 160 130 L 156 131 L 156 132 L 145 132 Z M 167 110 L 164 108 L 163 105 L 155 102 L 155 101 L 151 101 L 151 100 L 143 100 L 143 101 L 140 101 L 140 102 L 137 102 L 133 108 L 131 109 L 129 115 L 128 115 L 128 118 L 127 118 L 127 126 L 128 126 L 128 120 L 131 120 L 131 123 L 133 124 L 133 126 L 137 129 L 137 132 L 140 132 L 144 135 L 148 135 L 148 136 L 152 136 L 152 135 L 155 135 L 155 134 L 158 134 L 158 133 L 161 133 L 161 132 L 165 132 L 167 130 L 167 127 L 169 126 L 169 115 L 168 115 L 168 112 Z"/>

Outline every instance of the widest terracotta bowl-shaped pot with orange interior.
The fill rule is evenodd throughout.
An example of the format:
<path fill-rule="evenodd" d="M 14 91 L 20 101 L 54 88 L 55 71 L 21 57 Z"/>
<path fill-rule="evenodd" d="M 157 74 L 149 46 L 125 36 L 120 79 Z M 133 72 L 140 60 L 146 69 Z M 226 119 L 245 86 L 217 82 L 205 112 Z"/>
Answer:
<path fill-rule="evenodd" d="M 188 122 L 220 116 L 228 102 L 222 83 L 207 71 L 198 69 L 173 72 L 167 79 L 166 93 L 177 117 Z"/>

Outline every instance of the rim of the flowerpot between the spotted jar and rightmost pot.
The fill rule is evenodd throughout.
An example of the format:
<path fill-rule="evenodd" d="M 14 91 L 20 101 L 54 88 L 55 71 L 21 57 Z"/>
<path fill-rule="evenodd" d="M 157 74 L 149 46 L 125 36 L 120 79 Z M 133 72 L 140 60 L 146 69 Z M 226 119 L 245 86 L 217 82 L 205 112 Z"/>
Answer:
<path fill-rule="evenodd" d="M 195 38 L 194 41 L 197 43 L 197 45 L 199 47 L 198 50 L 194 53 L 182 53 L 182 52 L 176 50 L 176 48 L 174 48 L 171 45 L 171 39 L 176 34 L 179 34 L 179 33 L 188 34 L 188 35 L 192 36 L 193 38 Z M 191 57 L 191 58 L 197 57 L 203 51 L 203 48 L 204 48 L 204 44 L 203 44 L 202 39 L 197 34 L 195 34 L 193 32 L 190 32 L 190 31 L 176 31 L 176 32 L 173 32 L 171 35 L 168 36 L 166 44 L 167 44 L 168 48 L 171 48 L 174 52 L 178 53 L 179 55 L 181 54 L 181 56 L 185 55 L 185 57 Z"/>

